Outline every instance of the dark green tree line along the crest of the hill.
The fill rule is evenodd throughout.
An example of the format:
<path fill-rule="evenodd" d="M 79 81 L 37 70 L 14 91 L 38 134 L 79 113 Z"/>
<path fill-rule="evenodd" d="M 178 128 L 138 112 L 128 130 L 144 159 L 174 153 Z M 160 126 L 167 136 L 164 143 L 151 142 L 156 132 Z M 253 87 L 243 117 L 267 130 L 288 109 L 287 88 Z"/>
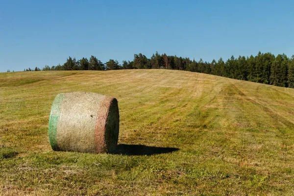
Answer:
<path fill-rule="evenodd" d="M 95 56 L 76 60 L 69 57 L 63 65 L 49 67 L 46 65 L 42 71 L 59 70 L 120 70 L 120 69 L 171 69 L 184 70 L 190 72 L 207 73 L 229 77 L 239 80 L 271 84 L 281 87 L 294 88 L 294 55 L 289 58 L 285 54 L 274 56 L 270 52 L 259 52 L 256 56 L 239 56 L 224 61 L 213 59 L 211 62 L 200 59 L 196 61 L 190 58 L 182 58 L 159 54 L 156 52 L 150 58 L 144 54 L 134 54 L 133 61 L 123 61 L 120 64 L 117 60 L 110 59 L 102 63 Z M 26 69 L 25 71 L 32 71 Z M 34 71 L 41 71 L 35 68 Z"/>

